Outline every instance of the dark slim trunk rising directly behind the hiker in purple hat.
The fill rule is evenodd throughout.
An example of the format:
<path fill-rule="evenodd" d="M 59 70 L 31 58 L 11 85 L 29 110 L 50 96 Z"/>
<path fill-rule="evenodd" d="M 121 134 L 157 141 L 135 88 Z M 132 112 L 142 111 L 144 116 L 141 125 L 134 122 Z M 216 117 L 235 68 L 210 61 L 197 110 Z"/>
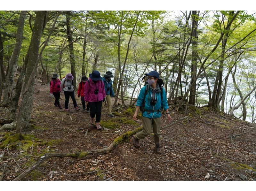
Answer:
<path fill-rule="evenodd" d="M 77 90 L 77 88 L 76 88 L 76 60 L 75 60 L 74 47 L 73 47 L 72 31 L 70 28 L 70 16 L 71 16 L 71 14 L 69 12 L 67 12 L 66 21 L 67 21 L 68 44 L 69 44 L 70 68 L 71 68 L 71 73 L 74 77 L 74 90 L 76 91 Z"/>

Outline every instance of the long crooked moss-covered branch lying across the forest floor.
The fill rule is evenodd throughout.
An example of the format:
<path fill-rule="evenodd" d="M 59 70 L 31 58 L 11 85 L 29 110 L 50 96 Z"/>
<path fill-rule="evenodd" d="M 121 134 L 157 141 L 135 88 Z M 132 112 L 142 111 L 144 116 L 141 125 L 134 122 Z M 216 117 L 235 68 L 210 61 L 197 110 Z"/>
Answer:
<path fill-rule="evenodd" d="M 27 176 L 29 173 L 31 173 L 33 170 L 35 170 L 40 164 L 42 164 L 44 161 L 46 161 L 52 157 L 83 158 L 83 157 L 86 157 L 87 155 L 91 155 L 91 154 L 109 153 L 113 148 L 115 148 L 118 145 L 118 143 L 120 143 L 121 141 L 124 141 L 125 139 L 128 139 L 130 136 L 132 136 L 133 134 L 136 134 L 137 132 L 139 132 L 141 130 L 142 130 L 142 126 L 134 129 L 133 131 L 128 131 L 128 132 L 122 134 L 121 136 L 114 139 L 114 141 L 107 148 L 104 148 L 104 149 L 96 149 L 96 150 L 89 150 L 89 151 L 85 151 L 85 152 L 76 152 L 76 153 L 52 153 L 52 154 L 46 153 L 44 156 L 40 157 L 36 161 L 36 163 L 34 163 L 26 171 L 22 172 L 14 180 L 22 180 L 25 176 Z"/>

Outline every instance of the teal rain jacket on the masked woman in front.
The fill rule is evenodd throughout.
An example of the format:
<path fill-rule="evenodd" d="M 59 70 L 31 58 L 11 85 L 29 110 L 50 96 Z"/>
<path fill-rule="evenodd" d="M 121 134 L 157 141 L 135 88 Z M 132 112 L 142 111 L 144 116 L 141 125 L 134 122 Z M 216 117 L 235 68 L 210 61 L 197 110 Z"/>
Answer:
<path fill-rule="evenodd" d="M 146 88 L 147 88 L 146 86 L 141 88 L 136 106 L 141 107 L 143 105 L 143 98 L 144 98 Z M 153 91 L 150 87 L 148 88 L 148 94 L 145 96 L 145 101 L 146 101 L 145 102 L 145 110 L 159 110 L 159 109 L 161 109 L 161 105 L 162 105 L 164 111 L 169 108 L 168 103 L 167 103 L 165 90 L 164 90 L 164 88 L 162 88 L 162 89 L 163 89 L 163 100 L 161 100 L 161 90 L 159 89 L 159 91 L 156 92 L 156 97 L 157 97 L 156 104 L 155 105 L 150 105 L 151 96 L 152 96 Z M 146 118 L 159 118 L 159 117 L 162 116 L 162 113 L 161 112 L 147 112 L 147 111 L 144 111 L 142 115 L 143 115 L 143 117 L 146 117 Z"/>

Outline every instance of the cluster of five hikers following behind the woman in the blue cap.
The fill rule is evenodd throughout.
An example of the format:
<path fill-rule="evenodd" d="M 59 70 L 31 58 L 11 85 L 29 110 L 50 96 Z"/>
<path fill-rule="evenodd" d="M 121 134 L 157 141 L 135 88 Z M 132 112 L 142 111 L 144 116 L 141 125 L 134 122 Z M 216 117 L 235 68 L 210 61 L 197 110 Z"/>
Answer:
<path fill-rule="evenodd" d="M 59 99 L 60 93 L 64 92 L 65 111 L 70 111 L 68 108 L 69 97 L 72 99 L 75 110 L 79 111 L 80 109 L 77 106 L 75 98 L 73 75 L 68 73 L 61 81 L 58 79 L 58 77 L 59 75 L 57 73 L 53 73 L 50 83 L 50 95 L 55 97 L 54 105 L 62 109 Z M 108 104 L 108 117 L 115 117 L 111 112 L 111 97 L 115 96 L 112 88 L 113 81 L 111 80 L 111 77 L 114 76 L 110 71 L 106 72 L 104 77 L 101 77 L 100 72 L 95 70 L 89 74 L 89 79 L 86 76 L 82 76 L 77 90 L 77 96 L 81 96 L 83 111 L 86 113 L 90 112 L 90 123 L 92 125 L 94 124 L 94 118 L 96 115 L 95 123 L 97 129 L 99 130 L 101 129 L 101 109 L 105 106 L 106 101 Z"/>

